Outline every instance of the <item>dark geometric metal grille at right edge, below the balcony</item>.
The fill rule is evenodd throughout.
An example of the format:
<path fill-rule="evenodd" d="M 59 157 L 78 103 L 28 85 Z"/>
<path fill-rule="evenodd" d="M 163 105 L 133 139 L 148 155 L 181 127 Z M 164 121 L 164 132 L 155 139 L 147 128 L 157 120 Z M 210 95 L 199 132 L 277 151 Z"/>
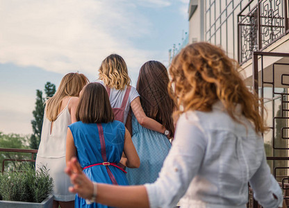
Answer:
<path fill-rule="evenodd" d="M 265 104 L 261 109 L 263 115 L 265 115 L 264 105 L 266 103 L 272 105 L 271 114 L 267 114 L 270 131 L 263 135 L 267 163 L 283 189 L 286 204 L 289 205 L 289 71 L 285 72 L 286 69 L 281 69 L 281 67 L 289 67 L 289 63 L 272 64 L 272 67 L 266 69 L 266 73 L 270 76 L 264 76 L 263 58 L 268 56 L 289 58 L 289 53 L 253 52 L 253 87 L 264 100 Z M 260 65 L 258 65 L 259 58 L 261 58 Z M 269 99 L 267 96 L 270 96 Z M 253 199 L 250 191 L 247 207 L 261 207 Z"/>

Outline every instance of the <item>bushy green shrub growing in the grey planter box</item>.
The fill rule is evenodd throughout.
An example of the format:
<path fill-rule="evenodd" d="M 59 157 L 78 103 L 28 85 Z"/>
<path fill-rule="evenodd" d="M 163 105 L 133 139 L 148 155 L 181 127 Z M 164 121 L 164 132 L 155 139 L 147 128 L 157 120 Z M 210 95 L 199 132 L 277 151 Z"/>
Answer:
<path fill-rule="evenodd" d="M 0 174 L 0 200 L 37 202 L 52 193 L 53 180 L 44 166 L 35 173 L 35 167 L 29 164 L 19 171 Z"/>

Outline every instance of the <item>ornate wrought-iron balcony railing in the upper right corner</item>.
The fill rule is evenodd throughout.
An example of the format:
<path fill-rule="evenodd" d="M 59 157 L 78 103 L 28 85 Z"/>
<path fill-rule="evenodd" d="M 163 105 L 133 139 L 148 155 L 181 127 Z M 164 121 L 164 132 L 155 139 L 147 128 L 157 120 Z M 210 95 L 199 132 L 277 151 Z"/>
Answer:
<path fill-rule="evenodd" d="M 252 0 L 238 14 L 238 60 L 251 58 L 288 34 L 288 0 Z"/>

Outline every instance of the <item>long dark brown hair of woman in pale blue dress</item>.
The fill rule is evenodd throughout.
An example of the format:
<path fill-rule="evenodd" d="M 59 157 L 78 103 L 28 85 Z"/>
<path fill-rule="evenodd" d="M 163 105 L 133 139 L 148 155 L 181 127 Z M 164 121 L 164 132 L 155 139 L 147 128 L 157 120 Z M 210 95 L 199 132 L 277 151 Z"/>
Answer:
<path fill-rule="evenodd" d="M 145 114 L 151 119 L 162 123 L 171 136 L 174 135 L 172 112 L 176 104 L 170 98 L 168 84 L 170 79 L 165 66 L 155 60 L 145 62 L 140 68 L 136 89 L 140 94 L 140 103 Z"/>

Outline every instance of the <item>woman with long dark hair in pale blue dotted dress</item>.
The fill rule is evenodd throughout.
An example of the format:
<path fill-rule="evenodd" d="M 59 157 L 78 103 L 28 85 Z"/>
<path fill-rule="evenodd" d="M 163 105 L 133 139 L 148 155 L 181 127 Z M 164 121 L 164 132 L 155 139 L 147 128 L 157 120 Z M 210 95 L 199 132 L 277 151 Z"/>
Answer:
<path fill-rule="evenodd" d="M 142 65 L 136 89 L 140 94 L 140 103 L 149 118 L 163 123 L 167 135 L 174 135 L 172 112 L 176 105 L 169 96 L 167 85 L 170 79 L 165 66 L 158 61 L 149 61 Z M 133 144 L 140 157 L 140 168 L 128 168 L 127 180 L 130 185 L 155 182 L 171 144 L 165 134 L 142 127 L 132 116 Z"/>

